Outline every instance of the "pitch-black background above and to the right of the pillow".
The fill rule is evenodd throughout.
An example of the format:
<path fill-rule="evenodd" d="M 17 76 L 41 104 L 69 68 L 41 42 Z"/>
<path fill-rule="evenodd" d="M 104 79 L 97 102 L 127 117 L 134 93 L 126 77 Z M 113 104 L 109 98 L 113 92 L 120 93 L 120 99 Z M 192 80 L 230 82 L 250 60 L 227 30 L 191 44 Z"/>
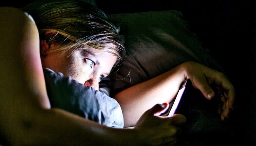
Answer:
<path fill-rule="evenodd" d="M 33 0 L 6 1 L 23 7 Z M 230 124 L 241 145 L 256 145 L 256 13 L 254 1 L 232 0 L 95 0 L 107 14 L 179 10 L 236 88 L 236 108 Z"/>

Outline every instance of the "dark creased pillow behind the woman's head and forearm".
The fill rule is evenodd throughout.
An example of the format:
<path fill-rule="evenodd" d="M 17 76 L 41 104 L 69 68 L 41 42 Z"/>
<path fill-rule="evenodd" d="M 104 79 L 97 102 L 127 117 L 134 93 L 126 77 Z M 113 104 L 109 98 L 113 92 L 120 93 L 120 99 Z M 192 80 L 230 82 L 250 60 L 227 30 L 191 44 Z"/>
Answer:
<path fill-rule="evenodd" d="M 126 56 L 111 74 L 111 95 L 149 80 L 186 61 L 196 61 L 223 72 L 179 11 L 111 14 L 124 36 Z"/>

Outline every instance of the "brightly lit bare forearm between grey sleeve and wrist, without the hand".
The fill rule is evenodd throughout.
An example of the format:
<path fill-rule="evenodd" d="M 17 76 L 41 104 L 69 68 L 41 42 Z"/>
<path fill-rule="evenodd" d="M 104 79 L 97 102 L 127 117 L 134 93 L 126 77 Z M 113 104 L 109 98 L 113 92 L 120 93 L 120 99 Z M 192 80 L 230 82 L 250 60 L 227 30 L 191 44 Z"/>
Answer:
<path fill-rule="evenodd" d="M 134 126 L 139 117 L 156 103 L 170 103 L 185 79 L 181 66 L 177 66 L 114 95 L 123 111 L 124 127 Z"/>

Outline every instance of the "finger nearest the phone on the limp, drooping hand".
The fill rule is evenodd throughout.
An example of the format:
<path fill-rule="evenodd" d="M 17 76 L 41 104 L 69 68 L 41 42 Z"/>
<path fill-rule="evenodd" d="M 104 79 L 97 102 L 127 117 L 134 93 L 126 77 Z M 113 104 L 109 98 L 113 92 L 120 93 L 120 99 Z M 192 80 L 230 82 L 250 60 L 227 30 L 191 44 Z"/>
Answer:
<path fill-rule="evenodd" d="M 212 99 L 215 96 L 215 92 L 210 87 L 205 77 L 195 81 L 192 80 L 192 84 L 195 88 L 199 89 L 202 92 L 203 96 L 207 99 Z"/>

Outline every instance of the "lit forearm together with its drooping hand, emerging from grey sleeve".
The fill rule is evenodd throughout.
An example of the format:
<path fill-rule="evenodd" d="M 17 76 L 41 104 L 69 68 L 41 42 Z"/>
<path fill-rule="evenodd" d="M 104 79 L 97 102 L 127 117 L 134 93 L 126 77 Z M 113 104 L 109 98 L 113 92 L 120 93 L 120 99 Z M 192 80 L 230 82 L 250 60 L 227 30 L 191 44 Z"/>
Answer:
<path fill-rule="evenodd" d="M 233 85 L 220 72 L 196 62 L 185 62 L 164 74 L 148 81 L 129 87 L 114 98 L 119 102 L 123 115 L 124 126 L 133 126 L 145 110 L 155 103 L 171 102 L 185 79 L 191 79 L 193 86 L 199 89 L 207 99 L 215 96 L 214 86 L 223 91 L 221 119 L 228 117 L 233 108 L 235 91 Z"/>

